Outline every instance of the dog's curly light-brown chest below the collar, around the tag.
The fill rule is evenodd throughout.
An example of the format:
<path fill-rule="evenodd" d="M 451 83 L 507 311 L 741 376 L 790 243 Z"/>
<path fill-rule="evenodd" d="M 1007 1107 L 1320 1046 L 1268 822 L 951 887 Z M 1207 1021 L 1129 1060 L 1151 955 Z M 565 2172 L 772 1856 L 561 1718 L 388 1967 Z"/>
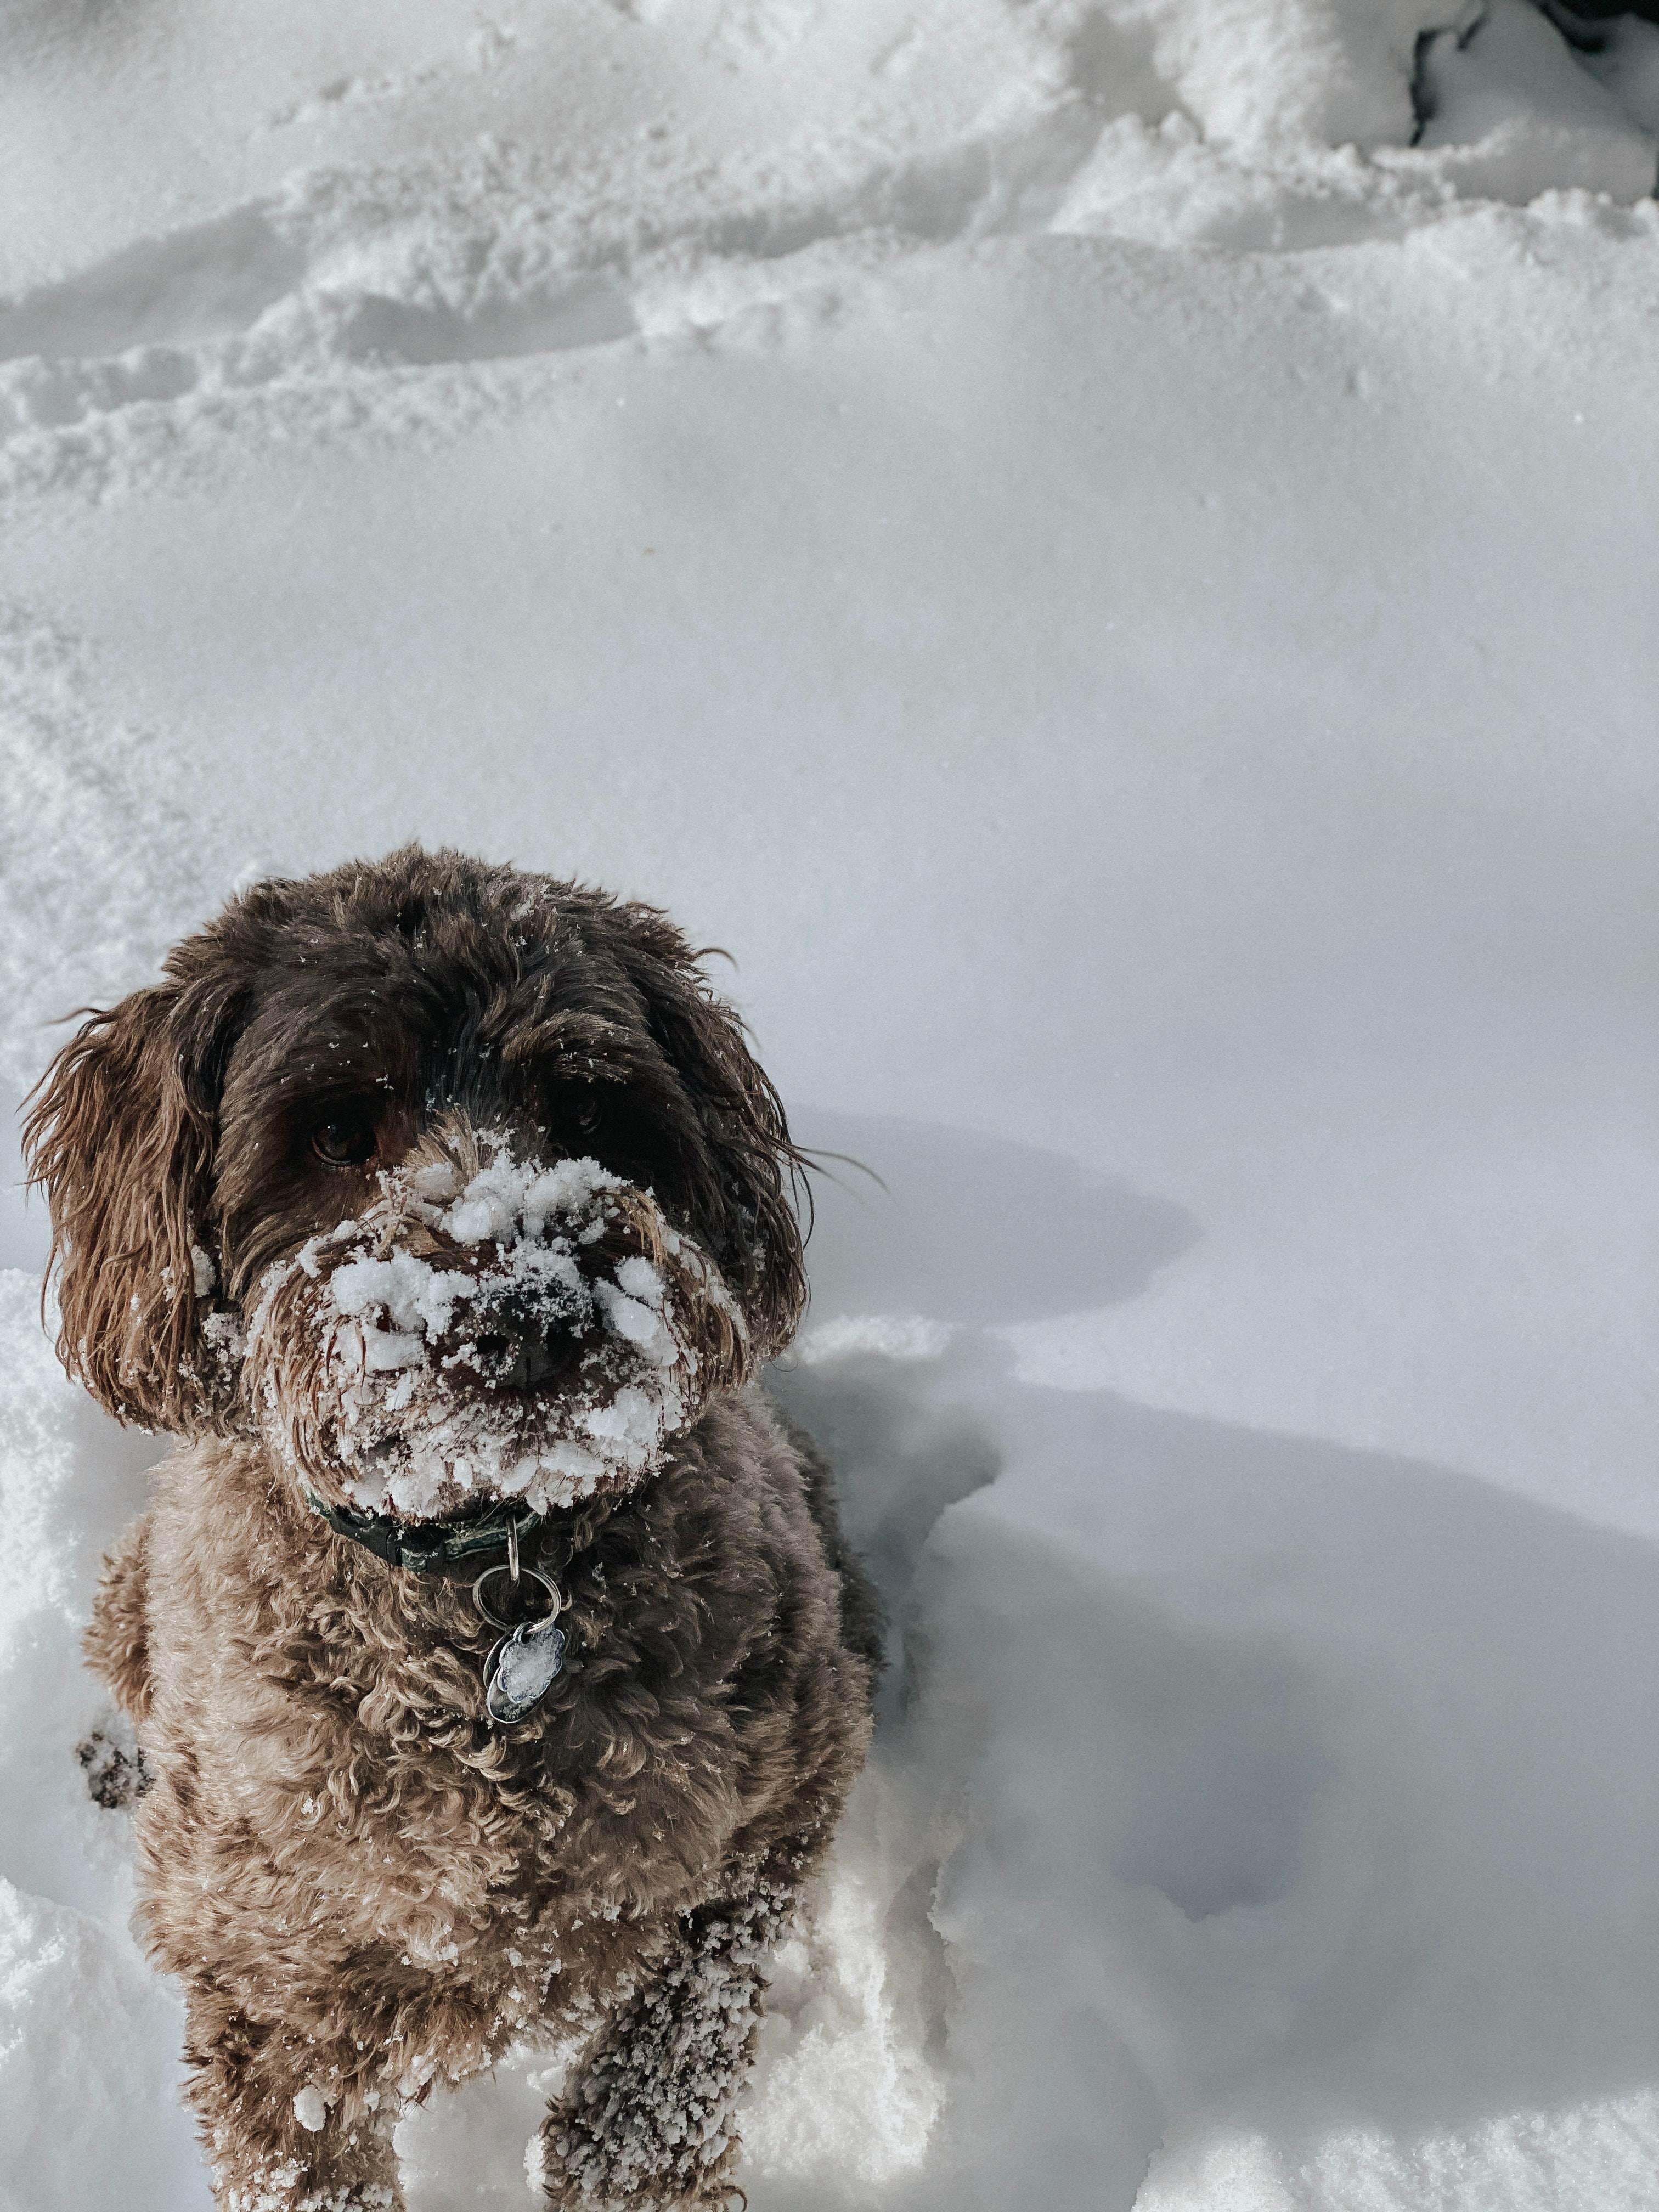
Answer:
<path fill-rule="evenodd" d="M 411 1958 L 690 1900 L 792 1703 L 787 1575 L 754 1546 L 739 1573 L 737 1533 L 672 1475 L 630 1502 L 560 1568 L 564 1670 L 491 1728 L 498 1630 L 465 1588 L 358 1559 L 252 1458 L 179 1462 L 150 1582 L 170 1646 L 157 1754 L 188 1772 L 170 1818 L 204 1874 L 234 1829 L 290 1920 L 321 1911 Z"/>

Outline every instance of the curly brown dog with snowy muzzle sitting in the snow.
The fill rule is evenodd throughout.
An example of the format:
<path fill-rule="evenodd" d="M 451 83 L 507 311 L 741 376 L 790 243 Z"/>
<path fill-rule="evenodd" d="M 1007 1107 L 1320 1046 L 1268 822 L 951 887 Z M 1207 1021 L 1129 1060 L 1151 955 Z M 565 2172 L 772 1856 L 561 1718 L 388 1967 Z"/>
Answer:
<path fill-rule="evenodd" d="M 453 852 L 259 883 L 27 1144 L 64 1365 L 179 1438 L 86 1652 L 221 2212 L 396 2212 L 398 2112 L 538 2037 L 549 2205 L 739 2201 L 880 1621 L 754 1385 L 801 1152 L 699 956 Z"/>

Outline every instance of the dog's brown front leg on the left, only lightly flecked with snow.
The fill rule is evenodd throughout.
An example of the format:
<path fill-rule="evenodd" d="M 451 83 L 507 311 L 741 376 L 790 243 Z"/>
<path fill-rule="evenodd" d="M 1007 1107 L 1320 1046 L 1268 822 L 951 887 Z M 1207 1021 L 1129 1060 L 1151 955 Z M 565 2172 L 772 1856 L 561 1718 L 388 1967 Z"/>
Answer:
<path fill-rule="evenodd" d="M 190 1991 L 186 2066 L 221 2212 L 403 2212 L 396 2097 L 365 2084 L 354 2048 L 330 2057 Z"/>

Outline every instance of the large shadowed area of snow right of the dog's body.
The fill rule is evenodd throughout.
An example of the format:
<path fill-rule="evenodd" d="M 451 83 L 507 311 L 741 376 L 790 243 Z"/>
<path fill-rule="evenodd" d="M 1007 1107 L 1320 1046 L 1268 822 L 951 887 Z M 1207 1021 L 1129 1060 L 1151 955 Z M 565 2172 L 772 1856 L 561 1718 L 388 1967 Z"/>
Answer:
<path fill-rule="evenodd" d="M 1159 2212 L 1652 2177 L 1652 1546 L 1020 1387 L 973 1332 L 823 1334 L 787 1394 L 896 1604 L 885 1871 L 931 1900 L 960 2084 L 918 2201 L 1130 2203 L 1148 2159 Z"/>

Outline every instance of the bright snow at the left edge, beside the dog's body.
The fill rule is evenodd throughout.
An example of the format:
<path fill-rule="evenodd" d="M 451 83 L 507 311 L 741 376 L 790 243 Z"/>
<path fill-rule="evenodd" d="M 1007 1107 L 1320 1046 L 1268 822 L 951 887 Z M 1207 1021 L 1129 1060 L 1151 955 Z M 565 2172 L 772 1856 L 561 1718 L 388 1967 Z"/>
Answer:
<path fill-rule="evenodd" d="M 77 1745 L 117 1734 L 80 1666 L 104 1544 L 155 1447 L 64 1383 L 38 1287 L 0 1272 L 0 2208 L 206 2205 L 179 2110 L 184 2015 L 126 1929 L 124 1818 L 88 1796 Z"/>

